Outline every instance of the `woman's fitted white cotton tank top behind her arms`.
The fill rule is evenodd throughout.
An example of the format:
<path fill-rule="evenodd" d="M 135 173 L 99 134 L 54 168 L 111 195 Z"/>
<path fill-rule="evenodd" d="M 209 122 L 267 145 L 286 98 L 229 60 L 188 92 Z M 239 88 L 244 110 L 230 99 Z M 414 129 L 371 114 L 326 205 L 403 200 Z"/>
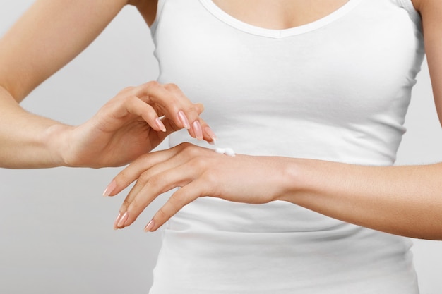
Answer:
<path fill-rule="evenodd" d="M 160 0 L 160 82 L 205 105 L 219 147 L 389 166 L 424 58 L 411 0 L 349 0 L 287 30 L 241 22 L 211 0 Z M 170 146 L 192 142 L 185 130 Z M 203 197 L 163 228 L 151 294 L 416 294 L 411 241 L 288 202 Z"/>

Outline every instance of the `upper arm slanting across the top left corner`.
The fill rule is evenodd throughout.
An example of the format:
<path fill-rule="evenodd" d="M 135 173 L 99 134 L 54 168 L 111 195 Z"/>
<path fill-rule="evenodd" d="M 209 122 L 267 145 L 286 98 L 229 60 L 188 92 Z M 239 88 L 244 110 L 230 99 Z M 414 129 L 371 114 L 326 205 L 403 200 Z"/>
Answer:
<path fill-rule="evenodd" d="M 0 39 L 0 86 L 19 102 L 97 37 L 127 0 L 37 0 Z"/>

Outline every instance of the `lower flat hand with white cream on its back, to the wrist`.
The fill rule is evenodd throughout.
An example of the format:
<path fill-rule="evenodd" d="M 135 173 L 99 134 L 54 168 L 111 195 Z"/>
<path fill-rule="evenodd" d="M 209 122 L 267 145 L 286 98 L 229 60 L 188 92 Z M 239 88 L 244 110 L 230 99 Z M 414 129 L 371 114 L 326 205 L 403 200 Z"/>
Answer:
<path fill-rule="evenodd" d="M 121 171 L 105 192 L 117 195 L 137 180 L 119 210 L 114 228 L 130 226 L 157 196 L 177 187 L 180 189 L 153 216 L 145 231 L 155 231 L 198 197 L 250 204 L 277 200 L 285 192 L 286 163 L 282 157 L 230 157 L 189 143 L 144 154 Z"/>

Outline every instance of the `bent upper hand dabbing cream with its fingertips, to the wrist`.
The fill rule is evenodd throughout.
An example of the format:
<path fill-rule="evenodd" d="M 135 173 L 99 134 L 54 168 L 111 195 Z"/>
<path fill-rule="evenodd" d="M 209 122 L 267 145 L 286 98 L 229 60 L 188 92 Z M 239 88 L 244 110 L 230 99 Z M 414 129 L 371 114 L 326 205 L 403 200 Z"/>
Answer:
<path fill-rule="evenodd" d="M 150 152 L 170 133 L 187 128 L 191 137 L 213 142 L 215 134 L 177 85 L 147 82 L 127 87 L 77 127 L 56 125 L 65 166 L 122 166 Z"/>

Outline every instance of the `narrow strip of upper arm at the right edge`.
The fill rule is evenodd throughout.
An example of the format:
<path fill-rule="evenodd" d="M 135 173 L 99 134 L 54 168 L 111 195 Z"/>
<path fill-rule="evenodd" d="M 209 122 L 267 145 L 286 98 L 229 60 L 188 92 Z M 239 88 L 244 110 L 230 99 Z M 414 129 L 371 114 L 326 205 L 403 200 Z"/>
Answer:
<path fill-rule="evenodd" d="M 442 1 L 414 0 L 414 5 L 422 16 L 426 59 L 434 102 L 442 124 Z"/>

